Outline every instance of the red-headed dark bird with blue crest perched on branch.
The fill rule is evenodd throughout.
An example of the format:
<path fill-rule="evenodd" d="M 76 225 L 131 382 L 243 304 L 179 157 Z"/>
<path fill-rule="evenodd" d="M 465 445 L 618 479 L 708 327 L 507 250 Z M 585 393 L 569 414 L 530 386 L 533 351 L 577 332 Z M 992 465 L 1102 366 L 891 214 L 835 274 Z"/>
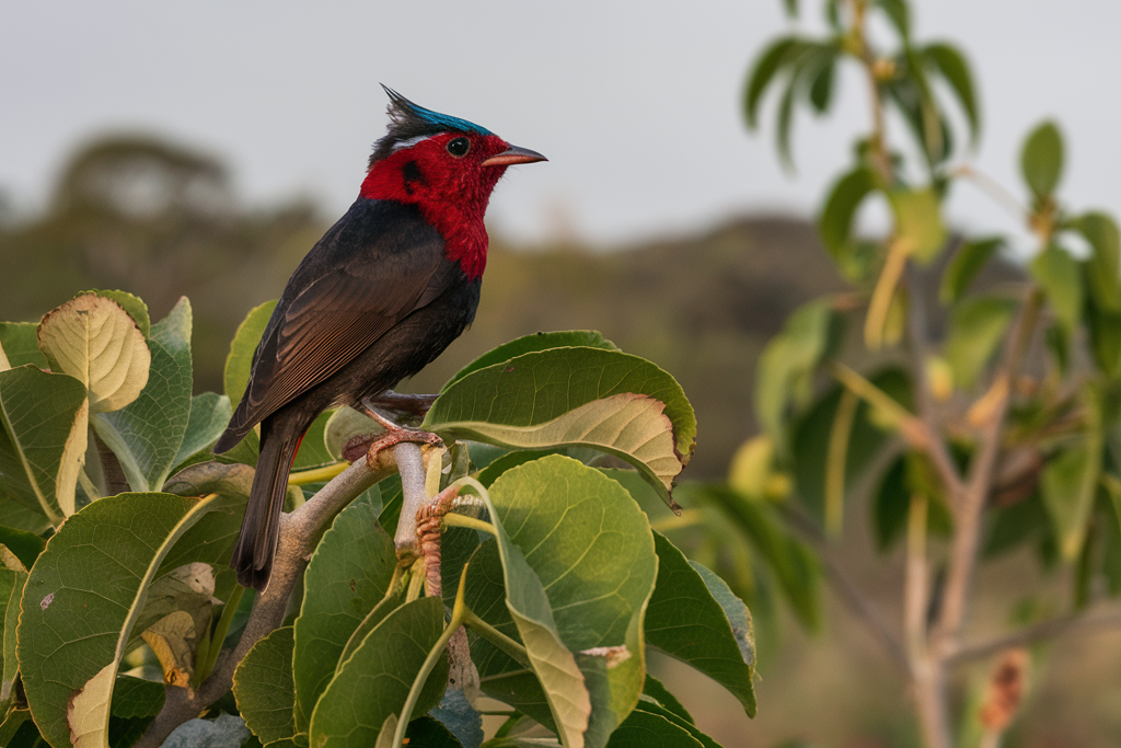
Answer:
<path fill-rule="evenodd" d="M 491 193 L 508 167 L 547 160 L 382 89 L 389 126 L 359 196 L 288 279 L 213 447 L 225 452 L 260 424 L 230 561 L 247 588 L 268 584 L 288 475 L 312 422 L 341 405 L 369 412 L 364 401 L 420 371 L 471 325 Z"/>

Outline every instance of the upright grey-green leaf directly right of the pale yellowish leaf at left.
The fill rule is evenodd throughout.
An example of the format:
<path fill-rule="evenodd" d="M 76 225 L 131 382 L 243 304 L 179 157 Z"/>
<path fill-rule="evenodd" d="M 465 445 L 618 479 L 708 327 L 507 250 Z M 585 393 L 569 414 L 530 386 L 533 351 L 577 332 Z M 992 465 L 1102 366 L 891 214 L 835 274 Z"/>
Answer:
<path fill-rule="evenodd" d="M 191 303 L 186 297 L 151 327 L 151 368 L 143 391 L 126 407 L 93 417 L 133 491 L 164 486 L 191 418 Z"/>

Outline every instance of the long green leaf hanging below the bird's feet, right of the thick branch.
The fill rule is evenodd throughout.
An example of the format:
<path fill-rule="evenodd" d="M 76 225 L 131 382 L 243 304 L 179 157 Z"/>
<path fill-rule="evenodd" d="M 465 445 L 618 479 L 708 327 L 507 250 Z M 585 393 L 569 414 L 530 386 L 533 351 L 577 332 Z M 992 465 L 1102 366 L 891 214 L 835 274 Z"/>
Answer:
<path fill-rule="evenodd" d="M 295 624 L 293 672 L 299 731 L 307 729 L 315 702 L 334 676 L 354 629 L 386 597 L 396 566 L 393 541 L 378 525 L 369 493 L 335 517 L 316 546 Z"/>

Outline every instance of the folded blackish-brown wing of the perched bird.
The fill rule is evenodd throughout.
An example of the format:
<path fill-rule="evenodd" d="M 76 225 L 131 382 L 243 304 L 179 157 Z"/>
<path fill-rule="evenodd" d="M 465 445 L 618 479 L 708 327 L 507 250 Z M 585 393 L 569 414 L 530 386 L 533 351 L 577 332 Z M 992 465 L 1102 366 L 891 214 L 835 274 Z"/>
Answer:
<path fill-rule="evenodd" d="M 354 212 L 288 281 L 230 432 L 243 435 L 327 379 L 461 275 L 445 257 L 439 233 L 419 215 Z"/>

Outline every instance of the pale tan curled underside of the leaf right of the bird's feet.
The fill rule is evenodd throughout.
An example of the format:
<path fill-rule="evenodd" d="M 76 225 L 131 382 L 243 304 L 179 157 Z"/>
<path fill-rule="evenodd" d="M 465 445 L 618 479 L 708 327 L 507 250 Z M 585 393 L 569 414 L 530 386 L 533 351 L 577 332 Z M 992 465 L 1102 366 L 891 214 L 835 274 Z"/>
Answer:
<path fill-rule="evenodd" d="M 461 421 L 441 424 L 439 431 L 519 449 L 595 446 L 639 469 L 647 468 L 668 496 L 683 465 L 674 446 L 673 424 L 664 410 L 665 405 L 659 400 L 622 393 L 592 400 L 534 426 Z"/>

